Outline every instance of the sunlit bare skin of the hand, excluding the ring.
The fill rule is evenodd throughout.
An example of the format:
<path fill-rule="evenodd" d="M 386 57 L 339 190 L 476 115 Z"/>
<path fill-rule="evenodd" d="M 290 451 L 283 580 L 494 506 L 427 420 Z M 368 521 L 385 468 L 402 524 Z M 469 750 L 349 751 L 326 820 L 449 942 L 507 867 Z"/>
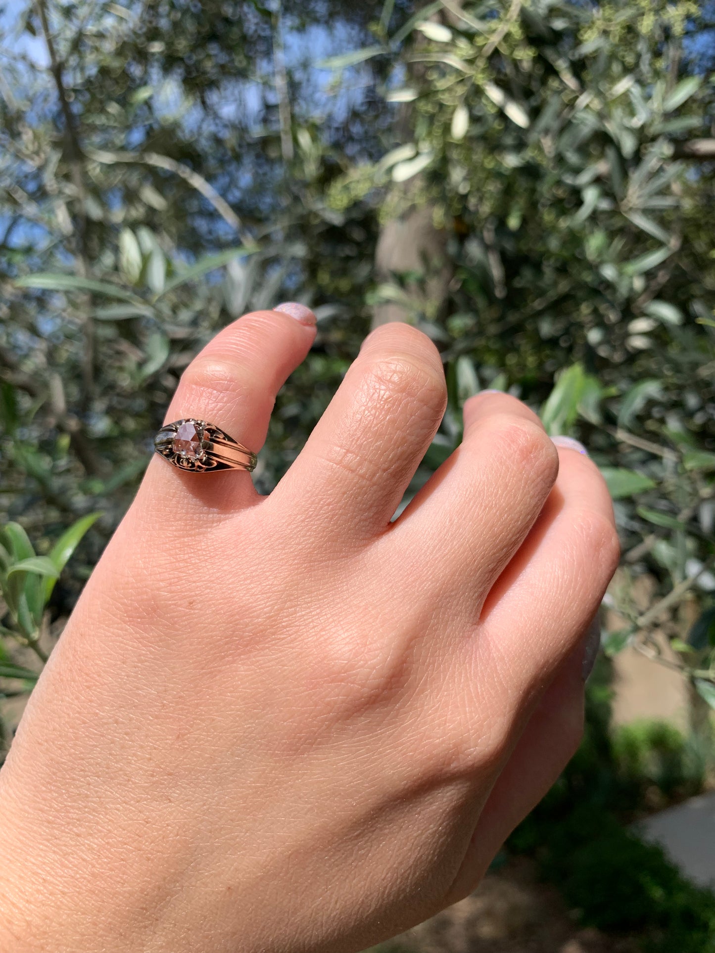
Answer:
<path fill-rule="evenodd" d="M 217 335 L 167 420 L 257 451 L 294 313 Z M 578 745 L 618 541 L 501 394 L 391 522 L 445 400 L 386 325 L 270 497 L 153 457 L 0 772 L 3 953 L 350 953 L 480 881 Z"/>

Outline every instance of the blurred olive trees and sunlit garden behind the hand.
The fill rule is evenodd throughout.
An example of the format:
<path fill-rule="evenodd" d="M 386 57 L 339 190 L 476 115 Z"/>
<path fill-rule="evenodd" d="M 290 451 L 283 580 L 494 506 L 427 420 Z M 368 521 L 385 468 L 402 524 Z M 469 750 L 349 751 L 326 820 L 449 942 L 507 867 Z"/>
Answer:
<path fill-rule="evenodd" d="M 715 950 L 714 65 L 694 0 L 0 5 L 3 750 L 206 341 L 317 314 L 268 493 L 408 321 L 450 395 L 410 494 L 508 390 L 602 467 L 623 560 L 579 754 L 383 949 Z"/>

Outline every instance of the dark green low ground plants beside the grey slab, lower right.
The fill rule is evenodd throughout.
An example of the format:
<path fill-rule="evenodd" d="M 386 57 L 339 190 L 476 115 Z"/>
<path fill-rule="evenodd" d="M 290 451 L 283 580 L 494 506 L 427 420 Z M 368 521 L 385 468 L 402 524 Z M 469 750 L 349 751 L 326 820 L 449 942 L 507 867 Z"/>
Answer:
<path fill-rule="evenodd" d="M 536 856 L 582 923 L 634 932 L 644 953 L 715 950 L 715 895 L 686 881 L 629 826 L 646 794 L 665 804 L 698 792 L 702 754 L 663 722 L 613 731 L 608 678 L 607 666 L 597 666 L 579 752 L 508 845 Z"/>

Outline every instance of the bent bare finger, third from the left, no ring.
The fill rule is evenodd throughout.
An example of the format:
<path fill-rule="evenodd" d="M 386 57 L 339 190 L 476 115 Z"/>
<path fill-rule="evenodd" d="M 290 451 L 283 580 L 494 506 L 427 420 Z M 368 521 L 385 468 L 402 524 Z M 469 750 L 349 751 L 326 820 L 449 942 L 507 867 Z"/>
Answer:
<path fill-rule="evenodd" d="M 386 545 L 428 552 L 431 579 L 469 618 L 541 513 L 559 471 L 539 417 L 516 397 L 485 392 L 464 406 L 460 447 L 399 517 Z M 399 578 L 404 560 L 395 560 Z"/>

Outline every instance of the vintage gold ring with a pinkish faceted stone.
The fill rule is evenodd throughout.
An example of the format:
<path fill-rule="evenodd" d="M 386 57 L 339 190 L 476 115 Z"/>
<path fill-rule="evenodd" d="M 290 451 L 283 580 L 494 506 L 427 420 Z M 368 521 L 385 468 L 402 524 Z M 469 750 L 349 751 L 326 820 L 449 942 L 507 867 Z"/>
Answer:
<path fill-rule="evenodd" d="M 165 423 L 153 438 L 153 449 L 165 460 L 191 473 L 255 468 L 256 456 L 233 436 L 206 420 L 186 417 Z"/>

